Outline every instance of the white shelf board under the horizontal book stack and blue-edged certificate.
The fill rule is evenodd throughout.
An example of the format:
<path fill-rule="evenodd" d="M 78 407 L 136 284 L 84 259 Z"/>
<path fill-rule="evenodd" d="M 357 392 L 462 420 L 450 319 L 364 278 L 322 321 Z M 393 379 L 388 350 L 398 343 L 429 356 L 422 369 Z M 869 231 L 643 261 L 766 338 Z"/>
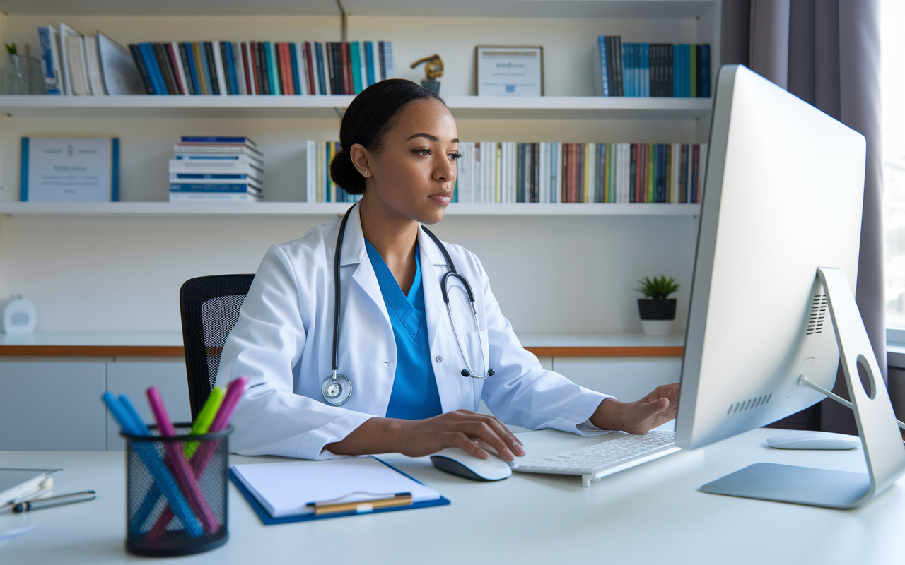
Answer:
<path fill-rule="evenodd" d="M 318 216 L 345 213 L 345 202 L 2 202 L 7 216 Z M 697 216 L 700 204 L 450 204 L 462 216 Z"/>

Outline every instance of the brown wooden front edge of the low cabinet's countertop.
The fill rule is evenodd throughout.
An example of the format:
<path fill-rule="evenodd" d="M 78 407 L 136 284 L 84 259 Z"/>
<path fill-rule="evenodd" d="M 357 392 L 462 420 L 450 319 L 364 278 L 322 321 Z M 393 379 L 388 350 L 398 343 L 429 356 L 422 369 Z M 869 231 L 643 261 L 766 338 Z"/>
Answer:
<path fill-rule="evenodd" d="M 681 357 L 681 346 L 526 347 L 538 357 Z M 181 346 L 163 345 L 0 345 L 0 356 L 182 357 Z"/>

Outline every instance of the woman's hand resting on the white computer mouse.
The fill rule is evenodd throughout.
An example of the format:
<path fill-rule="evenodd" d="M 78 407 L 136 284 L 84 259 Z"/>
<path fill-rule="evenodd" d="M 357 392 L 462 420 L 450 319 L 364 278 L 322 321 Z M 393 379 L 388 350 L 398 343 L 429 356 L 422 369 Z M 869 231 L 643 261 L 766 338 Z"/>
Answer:
<path fill-rule="evenodd" d="M 399 453 L 408 457 L 431 455 L 447 447 L 459 447 L 474 457 L 486 459 L 492 448 L 507 461 L 525 455 L 522 443 L 495 416 L 472 410 L 455 410 L 428 419 L 402 420 Z"/>

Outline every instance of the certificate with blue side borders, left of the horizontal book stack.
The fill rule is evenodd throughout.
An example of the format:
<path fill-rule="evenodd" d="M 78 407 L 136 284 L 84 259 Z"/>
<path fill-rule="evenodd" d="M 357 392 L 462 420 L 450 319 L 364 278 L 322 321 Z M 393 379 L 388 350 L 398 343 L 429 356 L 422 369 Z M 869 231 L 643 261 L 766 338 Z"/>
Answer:
<path fill-rule="evenodd" d="M 23 137 L 20 200 L 116 202 L 119 137 Z"/>

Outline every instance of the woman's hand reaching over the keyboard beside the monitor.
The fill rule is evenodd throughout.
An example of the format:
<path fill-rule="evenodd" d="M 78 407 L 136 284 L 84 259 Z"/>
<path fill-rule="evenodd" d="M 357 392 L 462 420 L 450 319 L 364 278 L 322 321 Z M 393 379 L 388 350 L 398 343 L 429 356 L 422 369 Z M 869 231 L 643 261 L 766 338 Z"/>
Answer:
<path fill-rule="evenodd" d="M 621 429 L 630 434 L 662 426 L 676 417 L 679 408 L 679 383 L 664 384 L 636 402 L 605 399 L 591 416 L 601 429 Z"/>

